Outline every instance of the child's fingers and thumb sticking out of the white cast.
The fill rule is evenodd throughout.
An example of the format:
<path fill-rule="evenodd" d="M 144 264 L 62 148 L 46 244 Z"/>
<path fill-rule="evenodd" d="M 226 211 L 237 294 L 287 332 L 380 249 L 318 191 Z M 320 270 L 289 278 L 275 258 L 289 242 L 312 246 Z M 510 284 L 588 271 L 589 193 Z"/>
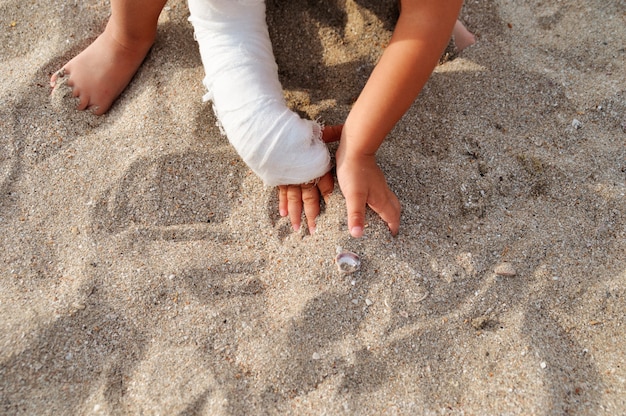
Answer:
<path fill-rule="evenodd" d="M 322 132 L 325 143 L 336 142 L 341 138 L 343 126 L 327 126 Z M 321 178 L 305 184 L 281 185 L 278 187 L 278 210 L 281 217 L 289 216 L 291 226 L 295 231 L 300 230 L 302 208 L 306 216 L 309 232 L 315 232 L 315 219 L 320 213 L 320 194 L 324 199 L 333 192 L 335 180 L 330 172 Z"/>

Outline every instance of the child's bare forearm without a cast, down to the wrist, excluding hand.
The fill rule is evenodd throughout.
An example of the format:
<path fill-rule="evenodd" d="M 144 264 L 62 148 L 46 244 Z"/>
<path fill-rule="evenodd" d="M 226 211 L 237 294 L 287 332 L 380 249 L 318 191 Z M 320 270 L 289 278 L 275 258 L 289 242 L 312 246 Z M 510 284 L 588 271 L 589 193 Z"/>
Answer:
<path fill-rule="evenodd" d="M 372 155 L 411 106 L 445 49 L 462 0 L 407 0 L 389 46 L 344 126 L 346 154 Z"/>

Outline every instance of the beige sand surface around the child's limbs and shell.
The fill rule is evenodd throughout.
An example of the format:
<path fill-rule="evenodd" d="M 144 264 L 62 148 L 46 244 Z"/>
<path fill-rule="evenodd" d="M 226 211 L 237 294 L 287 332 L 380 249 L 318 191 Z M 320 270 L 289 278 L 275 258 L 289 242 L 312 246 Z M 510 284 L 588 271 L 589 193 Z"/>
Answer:
<path fill-rule="evenodd" d="M 268 0 L 290 105 L 341 123 L 394 9 Z M 108 114 L 51 95 L 108 13 L 0 0 L 1 414 L 626 414 L 626 2 L 468 1 L 379 151 L 400 235 L 360 240 L 338 189 L 279 217 L 184 1 Z"/>

